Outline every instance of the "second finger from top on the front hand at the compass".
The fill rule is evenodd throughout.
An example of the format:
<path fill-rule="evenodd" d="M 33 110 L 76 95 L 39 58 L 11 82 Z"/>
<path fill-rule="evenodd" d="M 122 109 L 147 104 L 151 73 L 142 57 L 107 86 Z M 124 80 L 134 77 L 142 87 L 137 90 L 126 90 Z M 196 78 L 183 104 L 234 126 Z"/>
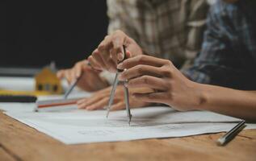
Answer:
<path fill-rule="evenodd" d="M 139 64 L 124 70 L 124 72 L 120 74 L 119 79 L 120 81 L 125 81 L 143 75 L 162 77 L 162 74 L 161 68 Z"/>

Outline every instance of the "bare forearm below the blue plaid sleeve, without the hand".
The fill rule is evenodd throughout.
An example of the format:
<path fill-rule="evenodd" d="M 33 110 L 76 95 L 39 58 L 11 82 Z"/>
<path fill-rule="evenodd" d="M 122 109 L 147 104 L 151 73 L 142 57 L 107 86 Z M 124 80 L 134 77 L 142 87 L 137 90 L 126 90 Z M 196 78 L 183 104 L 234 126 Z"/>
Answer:
<path fill-rule="evenodd" d="M 195 106 L 195 109 L 256 121 L 256 91 L 241 91 L 202 84 L 195 84 L 195 86 L 200 93 L 200 103 Z"/>

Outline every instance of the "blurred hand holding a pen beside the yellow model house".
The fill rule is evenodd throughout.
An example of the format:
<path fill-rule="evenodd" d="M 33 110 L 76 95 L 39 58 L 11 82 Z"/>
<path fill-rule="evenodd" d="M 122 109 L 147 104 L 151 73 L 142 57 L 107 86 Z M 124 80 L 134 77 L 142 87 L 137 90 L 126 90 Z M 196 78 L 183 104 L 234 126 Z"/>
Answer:
<path fill-rule="evenodd" d="M 59 79 L 66 78 L 69 84 L 75 81 L 79 76 L 82 77 L 78 81 L 78 87 L 88 92 L 106 88 L 107 81 L 99 76 L 99 71 L 94 70 L 88 65 L 87 60 L 79 61 L 73 68 L 62 69 L 57 72 Z"/>

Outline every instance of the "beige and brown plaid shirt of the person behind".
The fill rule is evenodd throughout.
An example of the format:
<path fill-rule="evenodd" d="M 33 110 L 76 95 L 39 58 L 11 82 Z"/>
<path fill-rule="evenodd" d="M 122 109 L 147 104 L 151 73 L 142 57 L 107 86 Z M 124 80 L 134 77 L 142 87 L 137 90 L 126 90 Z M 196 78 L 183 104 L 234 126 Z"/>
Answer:
<path fill-rule="evenodd" d="M 180 68 L 199 52 L 206 0 L 107 0 L 108 33 L 118 29 L 150 56 L 172 60 Z"/>

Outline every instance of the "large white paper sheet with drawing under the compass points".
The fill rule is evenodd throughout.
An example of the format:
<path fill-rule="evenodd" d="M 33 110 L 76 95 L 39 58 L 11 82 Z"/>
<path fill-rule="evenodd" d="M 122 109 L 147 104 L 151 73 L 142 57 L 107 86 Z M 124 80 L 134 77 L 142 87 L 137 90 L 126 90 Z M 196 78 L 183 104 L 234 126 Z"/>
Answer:
<path fill-rule="evenodd" d="M 143 138 L 183 137 L 230 130 L 240 120 L 205 111 L 178 112 L 170 107 L 132 109 L 128 126 L 124 110 L 32 113 L 6 112 L 12 118 L 34 127 L 66 144 L 115 142 Z M 254 129 L 255 124 L 246 128 Z"/>

